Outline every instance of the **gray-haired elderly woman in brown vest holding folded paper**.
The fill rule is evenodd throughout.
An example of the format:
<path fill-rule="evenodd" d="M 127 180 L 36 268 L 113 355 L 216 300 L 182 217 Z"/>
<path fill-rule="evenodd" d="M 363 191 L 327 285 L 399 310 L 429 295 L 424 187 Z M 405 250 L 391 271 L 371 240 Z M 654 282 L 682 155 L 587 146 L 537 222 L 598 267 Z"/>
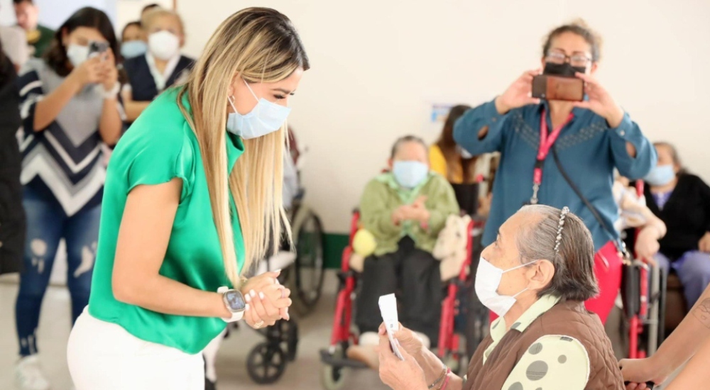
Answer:
<path fill-rule="evenodd" d="M 452 374 L 406 328 L 400 360 L 381 328 L 380 377 L 395 390 L 623 389 L 599 317 L 584 301 L 599 293 L 594 243 L 569 208 L 524 206 L 481 253 L 476 294 L 500 318 L 468 375 Z"/>

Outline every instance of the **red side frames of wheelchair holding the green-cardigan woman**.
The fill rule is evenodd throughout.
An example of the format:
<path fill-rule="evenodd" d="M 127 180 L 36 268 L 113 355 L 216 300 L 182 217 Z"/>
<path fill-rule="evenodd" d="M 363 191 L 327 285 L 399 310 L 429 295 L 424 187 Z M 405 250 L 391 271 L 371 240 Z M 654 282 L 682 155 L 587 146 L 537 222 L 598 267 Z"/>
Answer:
<path fill-rule="evenodd" d="M 357 275 L 356 272 L 350 269 L 350 257 L 353 254 L 352 244 L 354 235 L 359 229 L 359 219 L 360 213 L 359 211 L 355 211 L 350 223 L 348 246 L 342 254 L 341 268 L 339 272 L 341 288 L 337 295 L 330 346 L 327 350 L 320 351 L 321 361 L 325 364 L 324 384 L 329 389 L 339 388 L 340 384 L 336 382 L 342 380 L 342 376 L 339 371 L 344 367 L 366 367 L 365 364 L 361 362 L 355 362 L 345 357 L 347 347 L 350 345 L 357 345 L 359 342 L 357 335 L 351 329 L 353 313 L 352 305 L 355 298 Z M 459 306 L 457 299 L 459 289 L 461 289 L 461 286 L 464 286 L 469 279 L 469 274 L 466 273 L 466 269 L 469 269 L 471 265 L 473 248 L 472 232 L 475 225 L 475 221 L 471 221 L 471 223 L 469 223 L 469 234 L 467 235 L 466 242 L 466 260 L 464 260 L 459 276 L 447 282 L 447 296 L 442 301 L 442 316 L 439 328 L 438 344 L 439 357 L 442 359 L 452 358 L 460 361 L 461 357 L 461 351 L 459 351 L 460 338 L 459 335 L 454 333 L 454 318 L 457 315 L 457 306 Z M 330 377 L 330 379 L 328 379 L 328 377 Z"/>

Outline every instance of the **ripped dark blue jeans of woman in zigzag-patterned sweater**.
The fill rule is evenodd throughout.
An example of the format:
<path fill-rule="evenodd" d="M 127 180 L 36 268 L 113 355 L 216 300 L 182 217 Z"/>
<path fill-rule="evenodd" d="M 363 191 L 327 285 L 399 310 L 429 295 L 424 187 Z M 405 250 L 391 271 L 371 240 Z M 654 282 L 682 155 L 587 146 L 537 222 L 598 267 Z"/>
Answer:
<path fill-rule="evenodd" d="M 23 206 L 27 214 L 25 270 L 15 306 L 20 355 L 37 353 L 36 330 L 40 308 L 59 241 L 67 243 L 67 287 L 72 297 L 72 323 L 89 304 L 91 277 L 99 238 L 101 206 L 82 208 L 67 216 L 59 202 L 25 187 Z"/>

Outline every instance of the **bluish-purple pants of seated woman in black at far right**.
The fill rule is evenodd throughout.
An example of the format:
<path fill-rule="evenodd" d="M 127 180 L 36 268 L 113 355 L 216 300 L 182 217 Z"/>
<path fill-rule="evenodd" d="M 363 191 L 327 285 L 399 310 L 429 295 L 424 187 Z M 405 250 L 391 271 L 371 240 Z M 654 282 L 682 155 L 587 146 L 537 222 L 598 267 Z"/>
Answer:
<path fill-rule="evenodd" d="M 670 267 L 673 268 L 683 284 L 685 299 L 691 308 L 710 283 L 710 254 L 690 250 L 678 260 L 670 262 L 668 257 L 658 252 L 655 260 L 665 272 L 668 272 Z"/>

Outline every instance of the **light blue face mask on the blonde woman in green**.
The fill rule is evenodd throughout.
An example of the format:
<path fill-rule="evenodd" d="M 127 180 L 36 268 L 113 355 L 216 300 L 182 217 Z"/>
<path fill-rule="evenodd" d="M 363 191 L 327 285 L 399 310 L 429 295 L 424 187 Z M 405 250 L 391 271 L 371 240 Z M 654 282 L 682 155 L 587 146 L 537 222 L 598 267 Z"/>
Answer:
<path fill-rule="evenodd" d="M 226 129 L 229 130 L 229 133 L 239 135 L 244 140 L 262 137 L 278 130 L 288 118 L 291 109 L 271 103 L 271 101 L 263 98 L 259 99 L 246 80 L 244 84 L 246 84 L 246 87 L 249 88 L 254 99 L 256 99 L 256 107 L 246 115 L 241 115 L 241 113 L 236 112 L 234 99 L 228 96 L 226 99 L 231 104 L 234 112 L 229 113 L 229 117 L 226 120 Z"/>

